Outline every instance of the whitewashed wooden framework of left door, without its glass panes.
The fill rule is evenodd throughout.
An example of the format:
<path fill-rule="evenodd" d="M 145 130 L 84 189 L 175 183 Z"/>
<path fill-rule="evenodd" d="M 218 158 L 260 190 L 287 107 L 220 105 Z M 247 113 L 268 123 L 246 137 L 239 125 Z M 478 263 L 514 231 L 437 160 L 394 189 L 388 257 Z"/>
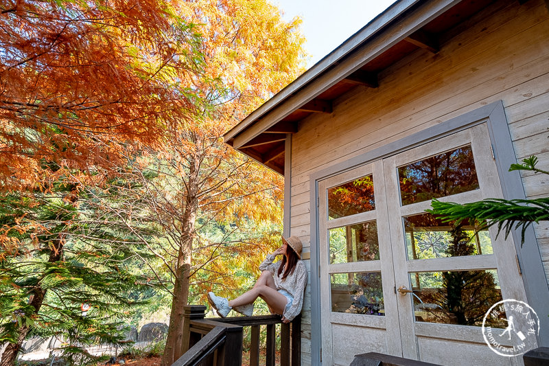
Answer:
<path fill-rule="evenodd" d="M 331 312 L 329 317 L 320 319 L 324 321 L 323 333 L 321 334 L 324 340 L 323 344 L 331 342 L 332 332 L 331 325 L 346 323 L 353 324 L 355 326 L 364 326 L 365 328 L 374 328 L 384 330 L 386 337 L 386 354 L 390 356 L 402 356 L 401 347 L 401 327 L 399 326 L 399 317 L 397 310 L 397 298 L 393 297 L 393 288 L 395 288 L 393 258 L 390 243 L 389 220 L 387 212 L 386 202 L 386 190 L 385 183 L 380 175 L 384 174 L 382 160 L 373 161 L 372 163 L 366 163 L 360 165 L 358 168 L 347 170 L 342 174 L 337 174 L 328 179 L 323 179 L 318 182 L 319 192 L 324 192 L 320 196 L 318 213 L 320 219 L 318 220 L 319 240 L 323 243 L 329 241 L 329 230 L 337 228 L 349 229 L 352 225 L 360 224 L 361 222 L 375 222 L 377 225 L 377 238 L 379 240 L 379 260 L 358 260 L 355 262 L 345 263 L 328 263 L 330 249 L 323 245 L 322 248 L 318 248 L 319 258 L 323 258 L 323 263 L 327 264 L 327 271 L 320 273 L 320 292 L 323 299 L 331 299 L 331 287 L 330 287 L 330 274 L 331 273 L 379 273 L 382 276 L 382 291 L 384 298 L 384 311 L 386 316 L 381 317 L 377 315 L 366 314 L 344 314 L 340 312 Z M 342 216 L 340 218 L 329 219 L 328 218 L 328 197 L 327 189 L 330 187 L 336 187 L 344 183 L 349 183 L 355 179 L 360 179 L 362 176 L 373 176 L 374 183 L 374 196 L 375 196 L 375 208 L 360 212 L 358 214 L 352 214 L 348 216 Z M 380 183 L 381 182 L 381 183 Z M 323 255 L 323 251 L 325 251 Z M 344 269 L 340 272 L 340 269 Z M 325 312 L 330 311 L 331 303 L 325 301 L 320 304 L 320 309 L 324 306 Z M 320 310 L 322 312 L 322 310 Z M 389 314 L 387 316 L 387 314 Z M 360 320 L 359 320 L 360 317 Z M 345 319 L 345 320 L 343 320 Z M 382 352 L 382 351 L 376 351 Z M 329 350 L 323 349 L 323 360 L 334 360 L 333 344 L 330 345 Z M 351 355 L 353 356 L 353 355 Z"/>

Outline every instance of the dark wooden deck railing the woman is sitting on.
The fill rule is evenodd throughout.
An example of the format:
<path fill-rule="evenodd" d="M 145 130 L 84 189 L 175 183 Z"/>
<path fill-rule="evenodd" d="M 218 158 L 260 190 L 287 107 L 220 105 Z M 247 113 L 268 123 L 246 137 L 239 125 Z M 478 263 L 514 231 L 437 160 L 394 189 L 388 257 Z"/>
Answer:
<path fill-rule="evenodd" d="M 172 366 L 242 365 L 243 328 L 250 327 L 250 366 L 259 366 L 261 327 L 266 327 L 266 366 L 276 361 L 276 327 L 280 324 L 280 365 L 301 364 L 301 319 L 282 323 L 276 315 L 205 319 L 206 306 L 185 306 L 183 351 Z"/>

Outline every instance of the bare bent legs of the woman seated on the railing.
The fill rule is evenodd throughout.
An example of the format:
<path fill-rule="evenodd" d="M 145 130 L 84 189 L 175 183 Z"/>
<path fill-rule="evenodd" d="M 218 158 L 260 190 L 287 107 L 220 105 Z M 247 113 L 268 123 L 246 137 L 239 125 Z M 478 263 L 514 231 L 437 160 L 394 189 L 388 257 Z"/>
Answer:
<path fill-rule="evenodd" d="M 282 314 L 288 303 L 288 299 L 277 291 L 274 285 L 274 279 L 269 271 L 263 271 L 253 288 L 240 295 L 236 299 L 229 301 L 229 306 L 243 306 L 253 303 L 257 297 L 261 297 L 267 303 L 271 312 Z"/>

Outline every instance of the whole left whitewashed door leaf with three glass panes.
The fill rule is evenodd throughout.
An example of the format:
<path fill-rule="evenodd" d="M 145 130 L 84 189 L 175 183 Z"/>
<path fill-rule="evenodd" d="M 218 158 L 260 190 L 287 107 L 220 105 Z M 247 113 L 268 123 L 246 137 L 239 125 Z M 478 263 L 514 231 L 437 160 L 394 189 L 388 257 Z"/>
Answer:
<path fill-rule="evenodd" d="M 382 161 L 319 182 L 323 365 L 401 355 Z"/>

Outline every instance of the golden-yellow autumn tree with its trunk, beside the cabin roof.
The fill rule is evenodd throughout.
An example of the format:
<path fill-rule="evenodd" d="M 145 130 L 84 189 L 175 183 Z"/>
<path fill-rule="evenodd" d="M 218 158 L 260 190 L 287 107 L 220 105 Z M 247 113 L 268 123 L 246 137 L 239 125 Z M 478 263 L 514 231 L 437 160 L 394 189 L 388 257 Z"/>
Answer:
<path fill-rule="evenodd" d="M 177 319 L 187 304 L 191 284 L 237 288 L 229 274 L 244 263 L 257 263 L 267 252 L 257 250 L 259 238 L 243 244 L 233 242 L 238 235 L 231 234 L 245 236 L 241 229 L 250 222 L 270 221 L 278 228 L 283 181 L 226 146 L 222 135 L 299 76 L 304 41 L 299 19 L 286 23 L 266 0 L 196 0 L 175 6 L 202 35 L 199 49 L 205 63 L 192 79 L 203 108 L 169 128 L 162 151 L 142 161 L 149 169 L 154 166 L 163 182 L 156 181 L 148 192 L 154 192 L 152 209 L 161 217 L 163 232 L 176 243 L 176 258 L 167 264 L 174 275 L 170 319 Z M 226 224 L 223 238 L 205 235 L 213 223 Z M 179 357 L 181 326 L 170 323 L 162 365 Z"/>

